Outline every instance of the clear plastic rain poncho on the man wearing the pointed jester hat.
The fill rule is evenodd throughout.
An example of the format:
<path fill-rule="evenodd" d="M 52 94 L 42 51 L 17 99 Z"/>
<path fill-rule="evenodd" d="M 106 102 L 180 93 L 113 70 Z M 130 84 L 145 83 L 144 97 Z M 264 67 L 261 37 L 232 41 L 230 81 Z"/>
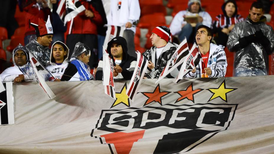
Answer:
<path fill-rule="evenodd" d="M 30 43 L 27 44 L 26 47 L 43 65 L 50 61 L 50 49 L 40 45 L 36 41 L 36 36 L 30 38 Z"/>

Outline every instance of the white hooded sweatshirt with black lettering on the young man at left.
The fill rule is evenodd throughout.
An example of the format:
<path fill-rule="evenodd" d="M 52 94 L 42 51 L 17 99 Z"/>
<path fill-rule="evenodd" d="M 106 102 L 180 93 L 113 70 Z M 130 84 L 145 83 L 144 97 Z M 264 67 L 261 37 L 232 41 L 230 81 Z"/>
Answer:
<path fill-rule="evenodd" d="M 53 47 L 56 43 L 62 44 L 62 46 L 66 50 L 66 55 L 64 56 L 64 61 L 63 61 L 63 63 L 61 63 L 59 65 L 58 65 L 58 63 L 55 62 L 55 59 L 53 58 Z M 79 75 L 77 77 L 77 74 L 75 74 L 75 73 L 73 74 L 73 72 L 75 72 L 75 70 L 77 72 L 77 68 L 75 67 L 75 65 L 71 64 L 70 61 L 68 60 L 68 53 L 69 53 L 68 47 L 63 42 L 56 41 L 53 43 L 53 45 L 51 47 L 51 51 L 50 51 L 50 62 L 48 62 L 46 65 L 47 70 L 51 74 L 49 74 L 49 73 L 44 74 L 45 81 L 54 81 L 55 79 L 61 79 L 61 81 L 79 81 L 79 79 L 78 79 Z M 73 74 L 73 76 L 71 76 L 71 74 Z M 62 76 L 66 76 L 69 79 L 66 77 L 62 78 Z M 76 79 L 74 79 L 74 77 L 76 77 Z"/>

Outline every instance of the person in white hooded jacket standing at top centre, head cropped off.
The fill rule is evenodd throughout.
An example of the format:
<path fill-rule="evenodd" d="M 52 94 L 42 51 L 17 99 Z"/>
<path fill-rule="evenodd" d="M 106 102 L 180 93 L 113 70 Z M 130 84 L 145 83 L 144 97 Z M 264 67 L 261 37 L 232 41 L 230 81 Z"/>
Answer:
<path fill-rule="evenodd" d="M 138 0 L 111 0 L 110 13 L 107 16 L 107 24 L 126 27 L 123 37 L 128 42 L 128 54 L 135 58 L 134 35 L 140 13 Z"/>

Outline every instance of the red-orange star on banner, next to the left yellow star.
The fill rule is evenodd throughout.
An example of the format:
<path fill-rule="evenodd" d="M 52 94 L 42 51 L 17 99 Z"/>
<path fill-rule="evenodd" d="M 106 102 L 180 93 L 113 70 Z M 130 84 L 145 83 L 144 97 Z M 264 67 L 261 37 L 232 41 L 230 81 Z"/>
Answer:
<path fill-rule="evenodd" d="M 158 84 L 158 86 L 156 86 L 153 92 L 141 92 L 141 93 L 145 95 L 147 98 L 149 98 L 146 100 L 146 103 L 143 105 L 143 106 L 146 106 L 147 104 L 150 104 L 154 101 L 162 105 L 162 97 L 166 96 L 167 94 L 171 92 L 167 92 L 167 91 L 161 92 L 160 84 Z"/>

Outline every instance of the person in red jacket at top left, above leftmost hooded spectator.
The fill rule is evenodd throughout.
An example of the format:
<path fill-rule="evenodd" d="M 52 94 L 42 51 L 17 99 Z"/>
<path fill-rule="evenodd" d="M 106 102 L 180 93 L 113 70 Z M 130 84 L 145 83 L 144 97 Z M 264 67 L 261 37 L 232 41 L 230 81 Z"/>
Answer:
<path fill-rule="evenodd" d="M 20 8 L 25 13 L 25 45 L 29 43 L 31 35 L 35 35 L 35 29 L 30 26 L 30 23 L 38 23 L 38 19 L 43 20 L 51 15 L 48 3 L 46 0 L 19 0 Z"/>

